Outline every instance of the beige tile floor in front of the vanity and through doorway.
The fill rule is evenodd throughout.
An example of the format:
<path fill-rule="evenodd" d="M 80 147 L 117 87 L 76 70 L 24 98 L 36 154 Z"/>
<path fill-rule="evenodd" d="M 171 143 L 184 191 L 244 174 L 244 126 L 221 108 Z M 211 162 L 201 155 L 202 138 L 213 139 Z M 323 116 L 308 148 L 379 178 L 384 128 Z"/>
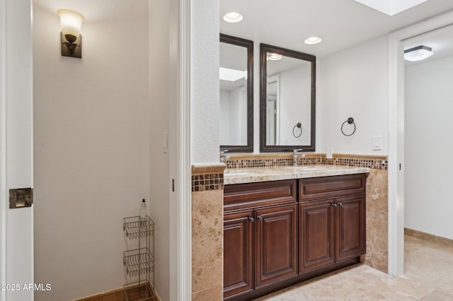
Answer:
<path fill-rule="evenodd" d="M 408 235 L 405 244 L 403 276 L 357 264 L 256 301 L 453 300 L 453 247 Z"/>

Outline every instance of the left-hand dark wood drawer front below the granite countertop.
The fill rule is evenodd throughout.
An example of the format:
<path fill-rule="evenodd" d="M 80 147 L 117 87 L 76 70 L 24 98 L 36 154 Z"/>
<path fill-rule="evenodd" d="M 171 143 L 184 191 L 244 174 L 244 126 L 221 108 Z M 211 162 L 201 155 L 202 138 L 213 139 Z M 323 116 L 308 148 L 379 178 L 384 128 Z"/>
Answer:
<path fill-rule="evenodd" d="M 296 201 L 296 180 L 225 185 L 224 209 L 268 206 Z"/>

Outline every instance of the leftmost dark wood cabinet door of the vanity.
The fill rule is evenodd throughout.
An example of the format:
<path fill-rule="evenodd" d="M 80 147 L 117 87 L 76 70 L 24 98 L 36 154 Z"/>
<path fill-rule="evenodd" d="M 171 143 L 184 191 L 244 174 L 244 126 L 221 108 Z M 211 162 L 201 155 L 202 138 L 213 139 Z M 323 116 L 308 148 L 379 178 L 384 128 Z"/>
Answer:
<path fill-rule="evenodd" d="M 224 214 L 224 298 L 253 290 L 253 210 Z"/>

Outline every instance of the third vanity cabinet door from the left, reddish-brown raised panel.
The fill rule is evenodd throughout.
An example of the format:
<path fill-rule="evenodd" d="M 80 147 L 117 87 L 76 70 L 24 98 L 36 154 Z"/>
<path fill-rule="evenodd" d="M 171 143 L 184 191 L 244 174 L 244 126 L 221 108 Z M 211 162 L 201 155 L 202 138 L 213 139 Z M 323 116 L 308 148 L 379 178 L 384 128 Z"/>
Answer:
<path fill-rule="evenodd" d="M 299 273 L 333 264 L 334 199 L 299 203 Z"/>

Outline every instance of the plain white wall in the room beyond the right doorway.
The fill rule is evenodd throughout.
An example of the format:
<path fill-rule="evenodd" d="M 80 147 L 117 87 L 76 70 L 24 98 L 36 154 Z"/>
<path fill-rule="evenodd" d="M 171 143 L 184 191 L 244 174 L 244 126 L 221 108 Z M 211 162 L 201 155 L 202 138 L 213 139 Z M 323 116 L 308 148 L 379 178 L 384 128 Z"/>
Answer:
<path fill-rule="evenodd" d="M 453 239 L 453 57 L 405 69 L 406 228 Z"/>

